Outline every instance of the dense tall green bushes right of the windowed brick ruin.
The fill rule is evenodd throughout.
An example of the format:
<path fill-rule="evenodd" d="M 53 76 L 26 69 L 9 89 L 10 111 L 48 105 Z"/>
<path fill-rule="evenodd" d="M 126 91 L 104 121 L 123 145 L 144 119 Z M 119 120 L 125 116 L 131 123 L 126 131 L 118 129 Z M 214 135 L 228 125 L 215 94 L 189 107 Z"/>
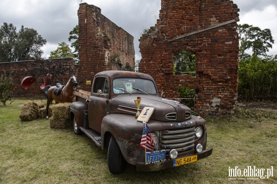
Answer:
<path fill-rule="evenodd" d="M 239 60 L 239 96 L 245 100 L 275 98 L 276 84 L 277 55 Z"/>

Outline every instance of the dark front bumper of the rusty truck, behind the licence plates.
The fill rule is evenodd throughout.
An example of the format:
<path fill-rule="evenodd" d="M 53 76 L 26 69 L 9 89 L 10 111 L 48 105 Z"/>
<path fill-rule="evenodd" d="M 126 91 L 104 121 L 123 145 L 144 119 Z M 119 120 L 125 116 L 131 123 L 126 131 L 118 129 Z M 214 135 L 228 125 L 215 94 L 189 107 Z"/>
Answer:
<path fill-rule="evenodd" d="M 201 153 L 185 155 L 182 157 L 177 157 L 175 159 L 181 159 L 183 157 L 197 155 L 197 160 L 200 160 L 200 159 L 204 159 L 204 158 L 210 156 L 212 154 L 212 152 L 213 152 L 213 147 L 211 146 L 210 148 L 202 151 Z M 171 168 L 171 167 L 173 167 L 173 162 L 174 162 L 174 160 L 171 160 L 171 159 L 167 159 L 164 162 L 152 163 L 152 164 L 147 164 L 147 165 L 145 165 L 145 162 L 137 162 L 136 166 L 137 166 L 137 170 L 139 170 L 139 171 L 155 171 L 155 170 L 163 170 L 163 169 Z"/>

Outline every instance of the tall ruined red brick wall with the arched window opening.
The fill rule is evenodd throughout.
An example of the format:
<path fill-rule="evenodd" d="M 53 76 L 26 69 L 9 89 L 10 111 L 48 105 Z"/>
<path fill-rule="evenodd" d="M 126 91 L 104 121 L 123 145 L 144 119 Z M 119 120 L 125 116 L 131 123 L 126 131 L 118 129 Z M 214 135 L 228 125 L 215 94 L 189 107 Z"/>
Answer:
<path fill-rule="evenodd" d="M 139 72 L 153 76 L 167 98 L 178 98 L 179 86 L 195 89 L 200 114 L 234 114 L 238 11 L 227 0 L 162 0 L 157 24 L 139 40 Z M 182 49 L 197 57 L 195 77 L 173 75 L 173 56 Z"/>

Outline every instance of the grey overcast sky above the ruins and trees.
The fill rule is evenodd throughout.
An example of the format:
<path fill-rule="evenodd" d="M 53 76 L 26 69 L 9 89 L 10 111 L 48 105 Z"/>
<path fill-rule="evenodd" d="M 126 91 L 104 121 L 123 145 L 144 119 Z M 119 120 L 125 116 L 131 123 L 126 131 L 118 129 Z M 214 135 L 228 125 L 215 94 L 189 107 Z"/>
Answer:
<path fill-rule="evenodd" d="M 139 53 L 139 37 L 145 28 L 154 26 L 159 18 L 161 0 L 83 0 L 101 8 L 102 14 L 134 37 L 135 59 Z M 268 55 L 277 54 L 277 1 L 276 0 L 233 0 L 238 5 L 238 24 L 250 24 L 271 30 L 275 44 Z M 78 24 L 78 0 L 1 0 L 0 25 L 12 23 L 17 30 L 21 25 L 38 31 L 47 44 L 42 48 L 43 57 L 58 43 L 68 41 L 69 32 Z"/>

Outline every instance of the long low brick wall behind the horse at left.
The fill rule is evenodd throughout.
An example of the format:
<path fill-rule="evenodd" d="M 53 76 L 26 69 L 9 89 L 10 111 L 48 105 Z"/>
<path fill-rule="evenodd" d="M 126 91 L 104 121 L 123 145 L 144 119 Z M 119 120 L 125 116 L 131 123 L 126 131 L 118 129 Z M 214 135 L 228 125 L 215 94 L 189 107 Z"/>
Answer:
<path fill-rule="evenodd" d="M 64 63 L 70 65 L 70 67 L 73 68 L 73 70 L 74 70 L 75 61 L 73 58 L 62 58 L 62 59 L 51 59 L 51 60 L 54 60 L 55 62 L 64 62 Z M 44 62 L 44 61 L 15 61 L 15 62 L 0 63 L 0 75 L 2 75 L 4 73 L 4 71 L 6 71 L 6 74 L 10 74 L 10 70 L 12 67 L 12 71 L 13 71 L 12 78 L 14 81 L 14 93 L 13 93 L 14 97 L 17 97 L 17 96 L 29 96 L 29 97 L 30 96 L 43 96 L 42 95 L 43 90 L 40 89 L 39 87 L 40 87 L 40 85 L 43 84 L 42 78 L 44 76 L 41 76 L 41 78 L 36 79 L 36 82 L 34 82 L 28 88 L 28 90 L 23 89 L 21 86 L 22 79 L 24 77 L 31 76 L 31 74 L 29 72 L 30 69 L 39 65 L 40 62 Z M 78 68 L 78 66 L 75 66 L 75 67 Z M 75 74 L 75 73 L 69 73 L 68 76 L 60 76 L 61 77 L 60 80 L 55 81 L 55 82 L 60 82 L 62 84 L 66 84 L 67 81 L 69 80 L 71 74 Z M 49 85 L 55 85 L 55 84 L 49 84 Z"/>

